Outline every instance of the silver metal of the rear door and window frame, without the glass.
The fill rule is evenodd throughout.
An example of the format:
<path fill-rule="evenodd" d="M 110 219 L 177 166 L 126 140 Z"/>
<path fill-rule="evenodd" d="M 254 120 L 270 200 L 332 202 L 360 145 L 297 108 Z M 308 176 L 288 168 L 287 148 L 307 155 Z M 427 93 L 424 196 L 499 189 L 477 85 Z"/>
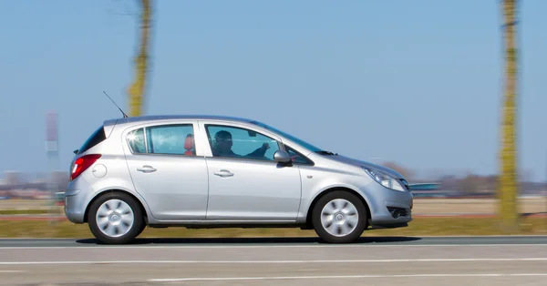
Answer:
<path fill-rule="evenodd" d="M 126 128 L 121 138 L 134 189 L 147 201 L 156 220 L 205 220 L 209 191 L 205 158 L 199 155 L 133 154 L 123 139 L 136 128 L 164 124 L 192 124 L 193 132 L 198 129 L 192 120 L 150 122 Z M 156 171 L 138 170 L 147 165 Z"/>

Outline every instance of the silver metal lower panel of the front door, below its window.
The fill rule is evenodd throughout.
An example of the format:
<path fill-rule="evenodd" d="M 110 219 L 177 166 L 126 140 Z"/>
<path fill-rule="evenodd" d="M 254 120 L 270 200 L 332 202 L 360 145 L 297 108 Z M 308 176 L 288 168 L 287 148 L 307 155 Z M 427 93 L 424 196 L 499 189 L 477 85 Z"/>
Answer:
<path fill-rule="evenodd" d="M 298 167 L 274 162 L 207 158 L 210 197 L 207 220 L 294 221 L 301 198 Z M 215 173 L 226 169 L 233 176 Z"/>

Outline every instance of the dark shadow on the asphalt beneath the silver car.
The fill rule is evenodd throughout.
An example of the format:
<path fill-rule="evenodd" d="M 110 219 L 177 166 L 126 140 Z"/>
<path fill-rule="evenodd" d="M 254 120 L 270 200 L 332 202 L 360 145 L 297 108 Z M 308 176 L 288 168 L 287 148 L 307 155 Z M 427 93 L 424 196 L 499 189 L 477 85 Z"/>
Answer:
<path fill-rule="evenodd" d="M 356 240 L 354 244 L 358 243 L 397 243 L 421 240 L 417 237 L 362 237 Z M 76 240 L 80 244 L 100 244 L 95 239 L 82 239 Z M 300 238 L 300 237 L 277 237 L 277 238 L 137 238 L 129 245 L 142 245 L 142 244 L 284 244 L 284 243 L 296 243 L 296 244 L 310 244 L 310 243 L 326 243 L 319 238 Z"/>

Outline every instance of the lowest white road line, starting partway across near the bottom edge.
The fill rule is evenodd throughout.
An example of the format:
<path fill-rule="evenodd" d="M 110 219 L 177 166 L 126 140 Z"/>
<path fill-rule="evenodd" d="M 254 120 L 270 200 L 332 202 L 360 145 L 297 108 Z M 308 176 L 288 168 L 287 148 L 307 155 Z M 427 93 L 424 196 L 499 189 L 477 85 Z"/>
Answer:
<path fill-rule="evenodd" d="M 195 277 L 195 278 L 159 278 L 149 282 L 176 281 L 249 281 L 249 280 L 310 280 L 310 279 L 356 279 L 356 278 L 432 278 L 432 277 L 522 277 L 547 276 L 547 273 L 460 273 L 460 274 L 400 274 L 400 275 L 334 275 L 334 276 L 274 276 L 274 277 Z"/>

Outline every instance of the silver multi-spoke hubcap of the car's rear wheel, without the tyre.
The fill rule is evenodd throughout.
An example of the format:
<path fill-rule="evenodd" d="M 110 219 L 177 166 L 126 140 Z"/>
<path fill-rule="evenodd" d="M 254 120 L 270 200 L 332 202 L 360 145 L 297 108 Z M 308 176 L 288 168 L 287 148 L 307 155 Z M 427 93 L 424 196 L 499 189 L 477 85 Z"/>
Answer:
<path fill-rule="evenodd" d="M 109 199 L 97 210 L 98 229 L 112 238 L 129 232 L 135 220 L 133 209 L 120 199 Z"/>

